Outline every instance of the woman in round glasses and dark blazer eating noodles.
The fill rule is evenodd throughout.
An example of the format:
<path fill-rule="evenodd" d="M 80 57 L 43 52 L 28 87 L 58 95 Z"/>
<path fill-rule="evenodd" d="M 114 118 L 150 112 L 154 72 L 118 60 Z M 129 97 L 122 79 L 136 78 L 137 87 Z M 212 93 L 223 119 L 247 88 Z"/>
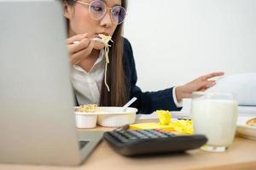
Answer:
<path fill-rule="evenodd" d="M 209 78 L 224 75 L 223 72 L 214 72 L 183 86 L 143 93 L 136 85 L 137 71 L 131 44 L 122 37 L 126 1 L 63 0 L 63 7 L 77 105 L 122 106 L 135 96 L 137 102 L 133 106 L 139 113 L 148 114 L 160 109 L 177 111 L 181 109 L 182 99 L 215 84 Z M 106 69 L 105 46 L 93 40 L 99 34 L 111 36 L 113 40 L 108 54 L 110 63 Z"/>

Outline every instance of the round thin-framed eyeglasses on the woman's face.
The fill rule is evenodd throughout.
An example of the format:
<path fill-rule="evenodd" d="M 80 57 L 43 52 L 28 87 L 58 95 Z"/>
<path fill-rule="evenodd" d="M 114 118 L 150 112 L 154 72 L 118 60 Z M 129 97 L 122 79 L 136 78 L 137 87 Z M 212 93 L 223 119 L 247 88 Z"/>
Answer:
<path fill-rule="evenodd" d="M 111 20 L 113 20 L 114 24 L 119 25 L 125 20 L 126 10 L 121 6 L 108 8 L 106 3 L 102 2 L 101 0 L 95 0 L 90 3 L 84 3 L 82 1 L 75 2 L 83 5 L 88 5 L 90 16 L 95 20 L 101 20 L 107 13 L 108 9 L 111 11 Z"/>

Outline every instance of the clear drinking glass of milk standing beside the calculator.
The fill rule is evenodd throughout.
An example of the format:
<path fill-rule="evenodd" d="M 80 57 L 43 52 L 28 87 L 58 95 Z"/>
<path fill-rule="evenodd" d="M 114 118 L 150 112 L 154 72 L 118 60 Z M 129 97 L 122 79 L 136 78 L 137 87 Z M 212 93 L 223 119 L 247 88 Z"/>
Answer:
<path fill-rule="evenodd" d="M 226 150 L 236 133 L 238 106 L 234 94 L 195 92 L 192 94 L 191 118 L 197 134 L 207 136 L 202 150 Z"/>

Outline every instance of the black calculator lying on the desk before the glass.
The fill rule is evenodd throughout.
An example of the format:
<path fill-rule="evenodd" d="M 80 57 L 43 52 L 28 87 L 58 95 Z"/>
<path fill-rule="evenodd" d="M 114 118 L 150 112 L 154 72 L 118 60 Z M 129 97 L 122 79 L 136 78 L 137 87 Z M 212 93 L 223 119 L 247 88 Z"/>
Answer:
<path fill-rule="evenodd" d="M 103 138 L 124 156 L 183 152 L 197 149 L 207 143 L 205 135 L 177 135 L 160 129 L 119 128 L 104 133 Z"/>

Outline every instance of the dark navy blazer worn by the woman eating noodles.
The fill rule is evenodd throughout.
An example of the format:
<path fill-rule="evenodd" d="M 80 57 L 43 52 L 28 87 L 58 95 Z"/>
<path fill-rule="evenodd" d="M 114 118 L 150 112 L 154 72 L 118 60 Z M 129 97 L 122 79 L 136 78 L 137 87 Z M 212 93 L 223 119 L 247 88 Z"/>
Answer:
<path fill-rule="evenodd" d="M 136 107 L 141 114 L 150 114 L 156 110 L 179 111 L 172 98 L 172 88 L 157 92 L 143 92 L 137 87 L 137 71 L 132 53 L 131 43 L 124 38 L 124 71 L 125 85 L 128 99 L 137 97 L 137 101 L 131 105 Z M 78 101 L 76 99 L 76 104 Z"/>

